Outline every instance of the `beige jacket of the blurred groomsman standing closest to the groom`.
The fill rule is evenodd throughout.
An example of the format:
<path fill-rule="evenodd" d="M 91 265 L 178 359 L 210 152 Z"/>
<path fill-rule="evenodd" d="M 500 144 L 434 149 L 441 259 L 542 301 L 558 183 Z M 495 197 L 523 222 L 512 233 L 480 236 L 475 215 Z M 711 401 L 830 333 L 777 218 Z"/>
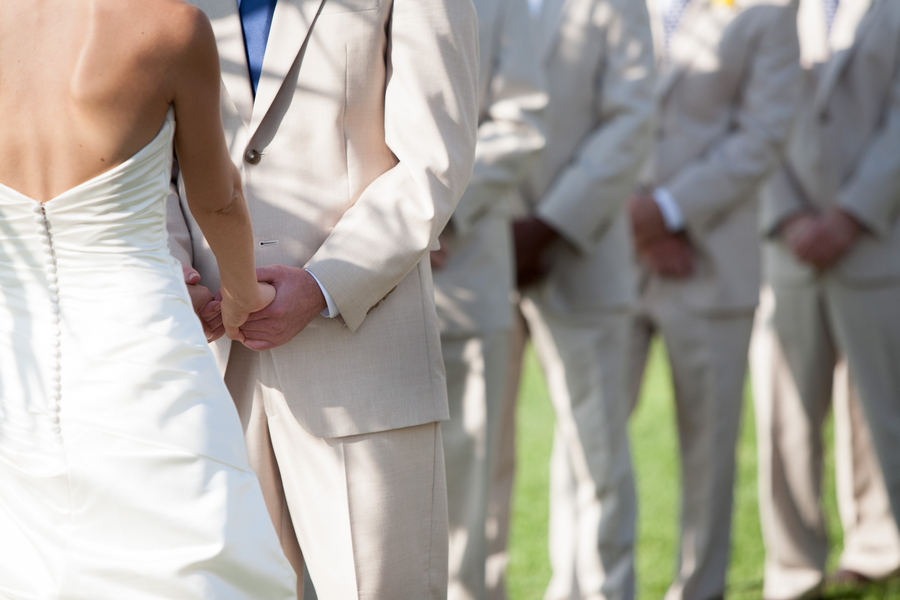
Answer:
<path fill-rule="evenodd" d="M 547 105 L 526 0 L 475 0 L 481 49 L 475 169 L 435 272 L 441 333 L 486 335 L 512 326 L 510 196 L 544 147 Z"/>

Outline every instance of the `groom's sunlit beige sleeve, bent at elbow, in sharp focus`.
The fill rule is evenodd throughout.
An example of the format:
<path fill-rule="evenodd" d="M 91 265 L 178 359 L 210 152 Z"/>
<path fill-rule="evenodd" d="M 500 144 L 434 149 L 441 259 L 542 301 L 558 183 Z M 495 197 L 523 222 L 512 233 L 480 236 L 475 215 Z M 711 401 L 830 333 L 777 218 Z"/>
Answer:
<path fill-rule="evenodd" d="M 384 136 L 398 163 L 363 191 L 306 265 L 351 331 L 432 247 L 475 157 L 472 0 L 395 0 L 392 11 Z"/>

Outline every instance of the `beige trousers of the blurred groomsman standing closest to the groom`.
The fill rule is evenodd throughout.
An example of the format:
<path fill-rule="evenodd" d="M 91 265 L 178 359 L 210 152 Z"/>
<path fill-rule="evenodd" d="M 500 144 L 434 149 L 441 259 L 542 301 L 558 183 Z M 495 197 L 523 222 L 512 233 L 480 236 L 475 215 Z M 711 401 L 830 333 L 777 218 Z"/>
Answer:
<path fill-rule="evenodd" d="M 488 489 L 506 391 L 509 331 L 445 335 L 450 420 L 441 423 L 450 514 L 449 600 L 484 600 Z"/>

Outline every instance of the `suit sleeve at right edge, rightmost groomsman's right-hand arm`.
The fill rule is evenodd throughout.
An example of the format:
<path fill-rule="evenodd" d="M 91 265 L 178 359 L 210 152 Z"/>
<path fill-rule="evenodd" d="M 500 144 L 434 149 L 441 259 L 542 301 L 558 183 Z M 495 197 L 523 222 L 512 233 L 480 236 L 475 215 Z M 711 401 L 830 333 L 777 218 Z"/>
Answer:
<path fill-rule="evenodd" d="M 878 237 L 890 235 L 900 213 L 900 54 L 895 56 L 884 122 L 838 193 L 838 206 Z"/>

